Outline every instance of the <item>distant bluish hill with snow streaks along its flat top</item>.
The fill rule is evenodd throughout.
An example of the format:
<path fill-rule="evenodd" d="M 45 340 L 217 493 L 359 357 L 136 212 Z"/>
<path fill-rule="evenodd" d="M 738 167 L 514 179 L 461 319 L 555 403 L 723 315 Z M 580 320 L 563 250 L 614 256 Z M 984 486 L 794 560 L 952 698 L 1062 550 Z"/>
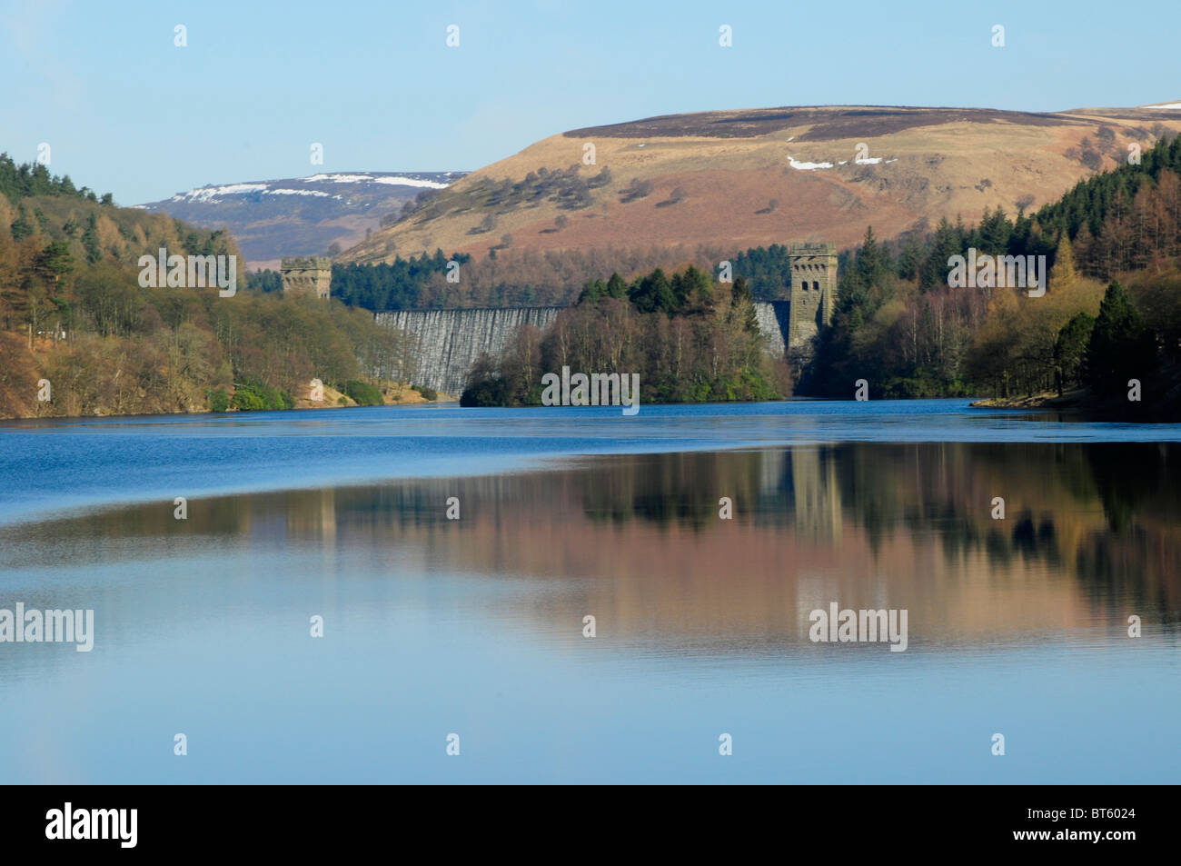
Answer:
<path fill-rule="evenodd" d="M 137 207 L 207 228 L 228 227 L 252 269 L 285 255 L 322 255 L 365 239 L 423 190 L 444 189 L 463 171 L 350 171 L 198 187 Z"/>

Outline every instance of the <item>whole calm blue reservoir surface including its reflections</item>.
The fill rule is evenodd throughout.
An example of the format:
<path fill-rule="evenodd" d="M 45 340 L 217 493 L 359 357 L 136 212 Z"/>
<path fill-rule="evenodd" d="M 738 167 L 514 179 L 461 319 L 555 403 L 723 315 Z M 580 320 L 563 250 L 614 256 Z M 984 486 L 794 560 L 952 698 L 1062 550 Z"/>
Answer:
<path fill-rule="evenodd" d="M 0 644 L 0 782 L 1176 782 L 1179 443 L 964 401 L 7 422 L 0 608 L 96 638 Z M 831 601 L 907 650 L 811 643 Z"/>

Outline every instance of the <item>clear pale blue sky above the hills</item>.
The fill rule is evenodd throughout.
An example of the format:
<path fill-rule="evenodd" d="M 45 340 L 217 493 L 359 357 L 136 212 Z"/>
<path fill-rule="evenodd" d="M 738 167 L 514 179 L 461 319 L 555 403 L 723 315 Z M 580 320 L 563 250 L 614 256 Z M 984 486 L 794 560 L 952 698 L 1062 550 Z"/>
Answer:
<path fill-rule="evenodd" d="M 0 0 L 0 150 L 32 162 L 46 142 L 51 171 L 132 204 L 315 171 L 470 170 L 680 111 L 1142 105 L 1181 99 L 1179 24 L 1177 0 Z"/>

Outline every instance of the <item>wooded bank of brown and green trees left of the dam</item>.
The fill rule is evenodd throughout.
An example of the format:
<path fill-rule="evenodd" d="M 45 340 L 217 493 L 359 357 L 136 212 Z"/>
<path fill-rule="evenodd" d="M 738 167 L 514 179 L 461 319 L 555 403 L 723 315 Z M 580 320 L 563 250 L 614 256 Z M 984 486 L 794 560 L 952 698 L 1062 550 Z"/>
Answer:
<path fill-rule="evenodd" d="M 142 288 L 144 253 L 239 250 L 224 232 L 103 207 L 65 183 L 38 193 L 43 168 L 15 171 L 40 178 L 34 194 L 0 195 L 0 416 L 288 408 L 313 378 L 368 401 L 357 383 L 413 375 L 405 334 L 338 300 Z"/>

